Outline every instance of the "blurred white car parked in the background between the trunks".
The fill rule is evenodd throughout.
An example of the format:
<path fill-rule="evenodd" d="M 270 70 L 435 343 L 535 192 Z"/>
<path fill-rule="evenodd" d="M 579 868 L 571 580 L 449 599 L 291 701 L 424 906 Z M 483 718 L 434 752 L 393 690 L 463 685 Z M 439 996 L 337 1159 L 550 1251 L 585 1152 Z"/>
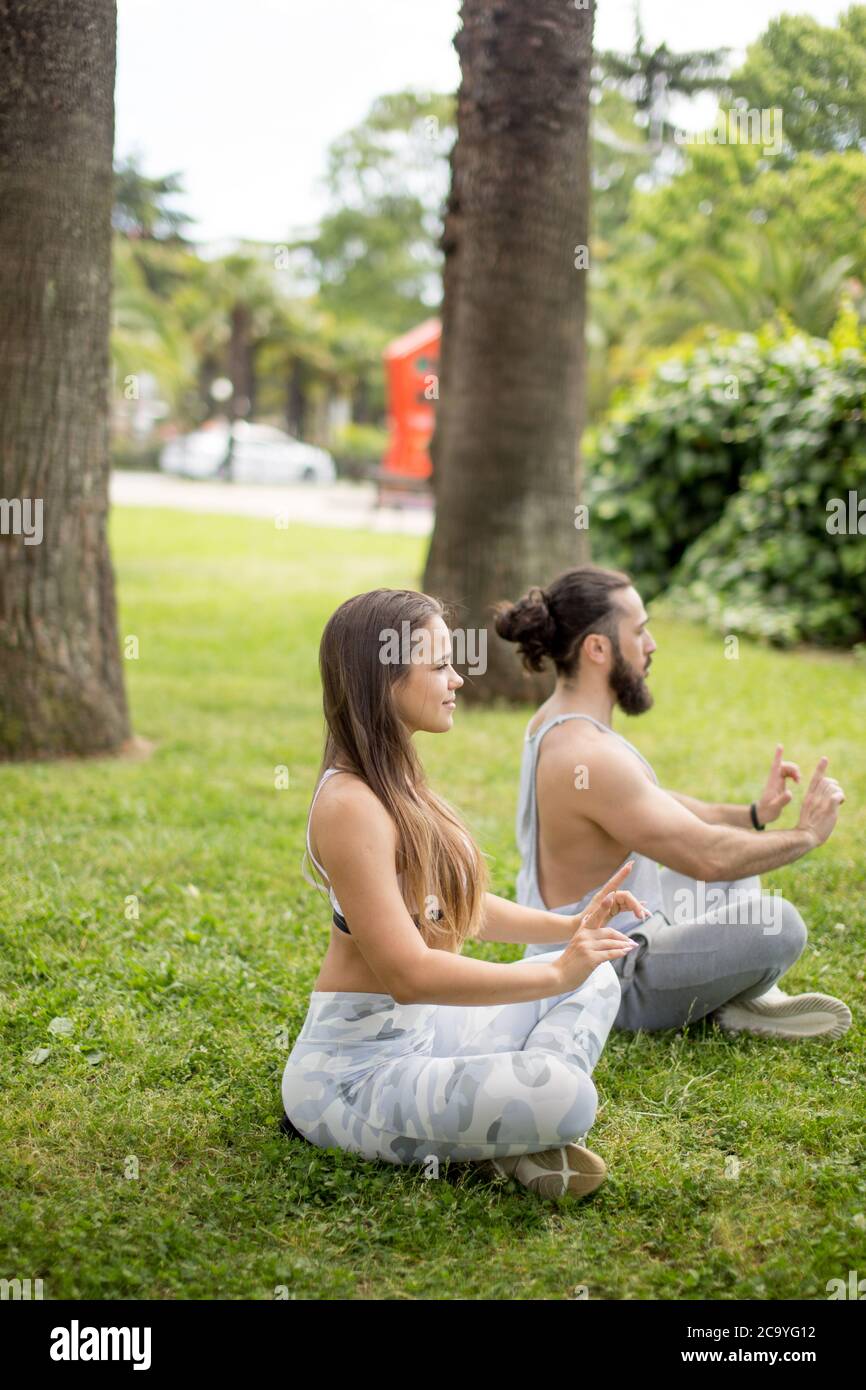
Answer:
<path fill-rule="evenodd" d="M 303 443 L 275 425 L 236 420 L 234 436 L 231 468 L 228 421 L 214 421 L 171 439 L 160 455 L 160 468 L 186 478 L 231 478 L 232 482 L 334 482 L 336 478 L 327 449 Z"/>

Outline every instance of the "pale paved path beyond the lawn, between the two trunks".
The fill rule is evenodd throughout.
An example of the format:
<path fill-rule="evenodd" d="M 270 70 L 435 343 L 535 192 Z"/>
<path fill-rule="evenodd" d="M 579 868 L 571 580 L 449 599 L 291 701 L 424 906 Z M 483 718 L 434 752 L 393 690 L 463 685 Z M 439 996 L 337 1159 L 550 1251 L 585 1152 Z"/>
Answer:
<path fill-rule="evenodd" d="M 165 473 L 111 474 L 110 496 L 121 507 L 172 507 L 179 512 L 218 512 L 224 516 L 279 518 L 282 525 L 342 525 L 353 531 L 403 531 L 427 535 L 432 507 L 410 502 L 406 507 L 375 507 L 371 482 L 335 482 L 322 488 L 252 486 L 238 482 L 199 482 Z"/>

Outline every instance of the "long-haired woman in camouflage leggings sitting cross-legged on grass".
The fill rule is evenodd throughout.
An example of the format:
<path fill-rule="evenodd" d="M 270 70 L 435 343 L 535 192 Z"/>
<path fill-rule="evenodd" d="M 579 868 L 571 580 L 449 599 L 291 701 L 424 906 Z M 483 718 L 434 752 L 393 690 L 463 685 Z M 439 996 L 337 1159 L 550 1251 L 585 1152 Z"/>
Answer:
<path fill-rule="evenodd" d="M 442 605 L 407 589 L 360 594 L 320 648 L 328 727 L 307 823 L 334 924 L 286 1062 L 282 1101 L 310 1143 L 389 1163 L 482 1161 L 545 1197 L 603 1182 L 584 1145 L 592 1069 L 613 1024 L 612 960 L 634 948 L 606 926 L 644 915 L 624 866 L 567 920 L 566 949 L 495 965 L 467 938 L 556 942 L 563 917 L 485 891 L 484 860 L 436 796 L 411 738 L 446 733 L 463 684 Z"/>

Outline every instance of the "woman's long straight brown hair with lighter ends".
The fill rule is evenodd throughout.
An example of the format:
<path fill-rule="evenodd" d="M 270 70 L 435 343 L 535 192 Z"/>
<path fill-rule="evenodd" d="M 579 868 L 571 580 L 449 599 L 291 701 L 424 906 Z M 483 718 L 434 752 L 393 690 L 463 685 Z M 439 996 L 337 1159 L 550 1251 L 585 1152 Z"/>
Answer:
<path fill-rule="evenodd" d="M 327 735 L 317 785 L 335 762 L 367 783 L 398 828 L 395 867 L 409 913 L 428 945 L 459 951 L 478 934 L 487 865 L 456 812 L 427 785 L 398 717 L 392 692 L 410 662 L 381 659 L 388 634 L 409 634 L 400 651 L 409 656 L 411 635 L 434 617 L 445 617 L 443 605 L 413 589 L 359 594 L 331 616 L 318 649 Z"/>

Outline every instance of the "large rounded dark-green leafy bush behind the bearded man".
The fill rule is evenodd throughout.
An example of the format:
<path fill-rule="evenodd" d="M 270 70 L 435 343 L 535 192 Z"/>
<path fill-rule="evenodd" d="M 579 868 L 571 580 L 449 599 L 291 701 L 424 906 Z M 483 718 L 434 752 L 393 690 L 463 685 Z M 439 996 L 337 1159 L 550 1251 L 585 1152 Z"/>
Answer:
<path fill-rule="evenodd" d="M 594 557 L 724 632 L 860 641 L 866 354 L 851 341 L 744 334 L 663 363 L 599 439 Z M 837 534 L 833 499 L 847 517 L 849 495 Z"/>

